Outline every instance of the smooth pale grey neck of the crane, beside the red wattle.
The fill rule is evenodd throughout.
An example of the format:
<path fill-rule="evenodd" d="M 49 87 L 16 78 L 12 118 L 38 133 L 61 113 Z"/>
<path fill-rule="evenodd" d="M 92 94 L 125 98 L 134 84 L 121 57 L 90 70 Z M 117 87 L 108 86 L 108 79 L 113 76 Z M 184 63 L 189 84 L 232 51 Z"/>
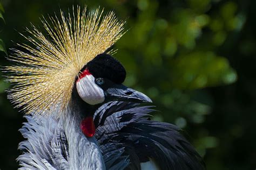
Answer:
<path fill-rule="evenodd" d="M 64 131 L 69 143 L 70 169 L 105 169 L 102 153 L 95 137 L 87 138 L 80 129 L 83 115 L 71 110 L 63 117 Z"/>

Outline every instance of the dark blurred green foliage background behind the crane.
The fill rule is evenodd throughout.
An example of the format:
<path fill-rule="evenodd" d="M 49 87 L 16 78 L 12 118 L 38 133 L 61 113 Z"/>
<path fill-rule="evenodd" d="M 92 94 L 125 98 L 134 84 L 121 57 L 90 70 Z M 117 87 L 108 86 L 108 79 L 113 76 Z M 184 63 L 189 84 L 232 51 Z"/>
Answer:
<path fill-rule="evenodd" d="M 59 9 L 87 4 L 127 20 L 115 48 L 125 85 L 152 98 L 154 119 L 185 130 L 207 169 L 256 168 L 256 1 L 3 0 L 0 65 L 24 42 L 30 23 Z M 6 47 L 6 48 L 5 48 Z M 7 51 L 5 51 L 7 49 Z M 5 52 L 4 52 L 5 51 Z M 6 100 L 0 79 L 0 169 L 17 169 L 22 114 Z"/>

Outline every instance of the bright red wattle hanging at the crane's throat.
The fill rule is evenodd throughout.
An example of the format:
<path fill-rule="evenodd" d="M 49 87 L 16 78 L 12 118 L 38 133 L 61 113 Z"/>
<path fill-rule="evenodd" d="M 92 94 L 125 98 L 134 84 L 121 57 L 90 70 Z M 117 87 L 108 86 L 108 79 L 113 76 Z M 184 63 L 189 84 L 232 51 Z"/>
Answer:
<path fill-rule="evenodd" d="M 83 119 L 80 128 L 86 137 L 91 138 L 95 135 L 95 125 L 91 116 Z"/>

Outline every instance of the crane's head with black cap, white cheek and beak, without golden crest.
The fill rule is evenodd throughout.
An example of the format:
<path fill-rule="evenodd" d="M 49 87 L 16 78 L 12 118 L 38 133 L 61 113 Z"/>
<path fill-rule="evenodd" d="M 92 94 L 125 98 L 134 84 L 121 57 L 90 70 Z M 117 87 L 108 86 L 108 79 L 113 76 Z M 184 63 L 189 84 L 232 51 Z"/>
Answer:
<path fill-rule="evenodd" d="M 80 98 L 90 105 L 109 101 L 152 102 L 139 91 L 125 87 L 126 71 L 110 54 L 102 53 L 88 62 L 76 80 Z"/>

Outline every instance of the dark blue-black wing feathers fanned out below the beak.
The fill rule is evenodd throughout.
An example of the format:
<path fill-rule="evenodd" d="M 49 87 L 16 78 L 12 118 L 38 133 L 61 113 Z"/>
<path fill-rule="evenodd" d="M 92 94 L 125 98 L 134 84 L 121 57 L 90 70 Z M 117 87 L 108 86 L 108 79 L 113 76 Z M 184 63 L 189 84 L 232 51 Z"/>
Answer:
<path fill-rule="evenodd" d="M 205 169 L 200 155 L 179 133 L 177 126 L 150 121 L 151 107 L 138 104 L 110 102 L 96 111 L 96 138 L 100 145 L 122 144 L 130 165 L 140 169 L 140 162 L 156 161 L 160 169 Z"/>

